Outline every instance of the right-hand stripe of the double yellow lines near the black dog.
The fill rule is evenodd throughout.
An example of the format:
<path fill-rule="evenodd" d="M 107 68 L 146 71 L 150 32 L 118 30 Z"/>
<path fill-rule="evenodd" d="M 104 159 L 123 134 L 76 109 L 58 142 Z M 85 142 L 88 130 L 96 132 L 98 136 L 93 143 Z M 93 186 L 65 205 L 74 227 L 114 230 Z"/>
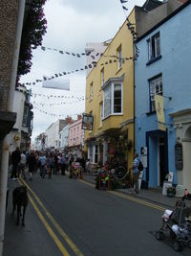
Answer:
<path fill-rule="evenodd" d="M 69 238 L 69 236 L 64 232 L 64 230 L 59 226 L 59 224 L 53 219 L 53 216 L 51 213 L 46 209 L 42 201 L 36 196 L 35 192 L 32 191 L 30 186 L 21 178 L 23 184 L 25 184 L 28 188 L 28 190 L 32 193 L 33 197 L 37 200 L 38 204 L 42 207 L 44 210 L 45 214 L 49 218 L 50 221 L 52 221 L 53 226 L 56 228 L 57 232 L 64 238 L 67 244 L 70 245 L 70 247 L 73 249 L 74 253 L 77 256 L 84 256 L 83 253 L 77 248 L 77 246 L 73 243 L 73 241 Z"/>

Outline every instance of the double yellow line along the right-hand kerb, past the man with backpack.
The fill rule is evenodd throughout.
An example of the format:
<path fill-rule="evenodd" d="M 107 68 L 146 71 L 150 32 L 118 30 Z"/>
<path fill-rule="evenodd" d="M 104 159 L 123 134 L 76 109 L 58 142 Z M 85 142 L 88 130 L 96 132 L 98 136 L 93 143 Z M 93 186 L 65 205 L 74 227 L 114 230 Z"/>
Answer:
<path fill-rule="evenodd" d="M 84 184 L 87 184 L 88 186 L 91 186 L 91 187 L 95 187 L 95 185 L 93 185 L 92 183 L 90 183 L 89 181 L 85 181 L 83 179 L 79 179 L 80 182 L 84 183 Z M 138 198 L 133 198 L 131 196 L 128 196 L 128 195 L 123 195 L 121 193 L 118 193 L 117 191 L 107 191 L 108 193 L 110 194 L 113 194 L 119 198 L 124 198 L 124 199 L 128 199 L 128 200 L 131 200 L 131 201 L 135 201 L 135 202 L 138 202 L 140 204 L 143 204 L 145 206 L 148 206 L 148 207 L 151 207 L 151 208 L 154 208 L 154 209 L 157 209 L 159 211 L 165 211 L 166 208 L 162 207 L 162 206 L 159 206 L 157 204 L 154 204 L 154 203 L 151 203 L 151 202 L 148 202 L 148 201 L 145 201 L 143 199 L 138 199 Z"/>

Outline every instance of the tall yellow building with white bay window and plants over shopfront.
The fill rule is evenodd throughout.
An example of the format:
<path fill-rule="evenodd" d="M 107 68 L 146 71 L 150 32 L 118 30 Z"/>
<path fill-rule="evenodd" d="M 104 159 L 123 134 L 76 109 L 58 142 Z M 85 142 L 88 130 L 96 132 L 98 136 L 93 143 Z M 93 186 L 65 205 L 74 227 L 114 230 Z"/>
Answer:
<path fill-rule="evenodd" d="M 91 162 L 132 165 L 134 154 L 134 31 L 135 11 L 96 62 L 86 79 L 86 114 L 94 117 L 85 130 Z M 93 59 L 94 60 L 94 59 Z"/>

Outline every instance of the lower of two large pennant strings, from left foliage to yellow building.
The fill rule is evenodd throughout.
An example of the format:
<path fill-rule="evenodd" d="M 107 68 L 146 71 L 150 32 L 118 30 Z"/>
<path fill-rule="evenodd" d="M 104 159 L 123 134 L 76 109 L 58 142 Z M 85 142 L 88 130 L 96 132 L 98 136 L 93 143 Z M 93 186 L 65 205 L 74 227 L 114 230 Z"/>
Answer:
<path fill-rule="evenodd" d="M 130 60 L 130 59 L 135 60 L 136 58 L 130 57 L 130 58 L 121 58 L 121 59 L 122 59 L 122 62 L 124 63 L 126 60 Z M 115 63 L 117 61 L 118 61 L 117 59 L 109 59 L 109 60 L 105 61 L 104 63 L 101 63 L 100 65 L 104 66 L 104 65 Z M 69 71 L 69 72 L 66 72 L 66 71 L 59 72 L 59 73 L 56 73 L 56 74 L 54 74 L 54 76 L 51 76 L 49 78 L 48 77 L 43 77 L 43 80 L 38 79 L 38 80 L 35 80 L 35 81 L 32 81 L 32 82 L 25 82 L 25 83 L 22 83 L 22 85 L 23 86 L 25 86 L 25 85 L 30 85 L 31 86 L 31 85 L 35 85 L 38 82 L 50 81 L 50 80 L 56 79 L 58 77 L 62 77 L 62 76 L 70 75 L 70 74 L 73 74 L 73 73 L 76 73 L 76 72 L 79 72 L 79 71 L 94 68 L 94 67 L 96 67 L 96 64 L 97 64 L 97 62 L 93 61 L 91 64 L 88 64 L 88 65 L 84 66 L 83 68 L 75 69 L 75 70 Z"/>

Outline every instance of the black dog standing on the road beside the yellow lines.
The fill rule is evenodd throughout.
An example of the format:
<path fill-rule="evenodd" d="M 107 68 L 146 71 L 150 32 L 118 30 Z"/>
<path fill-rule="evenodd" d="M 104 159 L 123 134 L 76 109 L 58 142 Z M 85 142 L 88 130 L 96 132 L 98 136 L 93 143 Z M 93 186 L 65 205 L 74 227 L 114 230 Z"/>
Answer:
<path fill-rule="evenodd" d="M 21 215 L 21 207 L 23 206 L 23 218 L 22 218 L 22 225 L 25 225 L 25 212 L 28 204 L 28 195 L 27 195 L 27 187 L 20 186 L 16 187 L 12 192 L 12 215 L 14 214 L 14 210 L 17 206 L 17 221 L 16 224 L 19 224 L 19 217 Z"/>

